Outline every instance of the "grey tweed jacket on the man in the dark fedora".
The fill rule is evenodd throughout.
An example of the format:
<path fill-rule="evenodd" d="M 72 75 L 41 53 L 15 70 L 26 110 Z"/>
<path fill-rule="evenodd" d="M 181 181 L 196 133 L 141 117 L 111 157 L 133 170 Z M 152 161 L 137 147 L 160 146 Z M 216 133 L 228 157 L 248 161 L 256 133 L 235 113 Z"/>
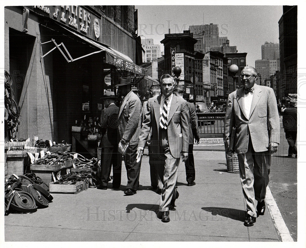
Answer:
<path fill-rule="evenodd" d="M 119 113 L 118 124 L 120 138 L 124 138 L 130 145 L 138 143 L 141 129 L 142 106 L 139 97 L 130 91 L 123 99 Z"/>

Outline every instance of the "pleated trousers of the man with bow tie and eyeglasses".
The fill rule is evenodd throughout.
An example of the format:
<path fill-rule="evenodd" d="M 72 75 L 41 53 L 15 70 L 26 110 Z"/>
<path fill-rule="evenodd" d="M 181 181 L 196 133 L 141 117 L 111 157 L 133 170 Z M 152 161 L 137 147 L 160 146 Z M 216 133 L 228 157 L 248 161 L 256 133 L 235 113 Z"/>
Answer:
<path fill-rule="evenodd" d="M 269 183 L 270 160 L 269 151 L 255 152 L 249 138 L 248 151 L 237 154 L 239 163 L 240 180 L 244 199 L 249 215 L 256 217 L 255 199 L 262 202 L 266 197 Z"/>

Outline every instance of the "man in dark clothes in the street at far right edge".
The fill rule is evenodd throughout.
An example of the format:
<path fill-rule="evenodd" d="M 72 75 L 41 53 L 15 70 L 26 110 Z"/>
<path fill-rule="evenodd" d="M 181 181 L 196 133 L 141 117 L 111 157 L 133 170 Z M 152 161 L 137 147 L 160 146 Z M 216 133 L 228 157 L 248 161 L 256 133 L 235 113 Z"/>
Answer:
<path fill-rule="evenodd" d="M 292 154 L 295 154 L 297 158 L 297 108 L 295 104 L 290 104 L 289 108 L 285 108 L 282 111 L 283 116 L 283 127 L 285 131 L 285 137 L 289 144 L 288 157 L 292 157 Z"/>

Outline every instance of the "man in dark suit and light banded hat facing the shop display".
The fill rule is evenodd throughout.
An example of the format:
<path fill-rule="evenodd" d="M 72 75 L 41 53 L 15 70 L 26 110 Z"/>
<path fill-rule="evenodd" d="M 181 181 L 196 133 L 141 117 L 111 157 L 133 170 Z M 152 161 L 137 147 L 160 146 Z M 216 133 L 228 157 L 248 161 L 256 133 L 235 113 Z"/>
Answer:
<path fill-rule="evenodd" d="M 121 184 L 121 154 L 118 153 L 118 110 L 115 105 L 117 96 L 112 91 L 106 91 L 102 96 L 104 109 L 101 112 L 100 131 L 102 138 L 101 147 L 101 176 L 98 189 L 107 189 L 108 178 L 110 177 L 113 165 L 113 189 L 118 189 Z"/>

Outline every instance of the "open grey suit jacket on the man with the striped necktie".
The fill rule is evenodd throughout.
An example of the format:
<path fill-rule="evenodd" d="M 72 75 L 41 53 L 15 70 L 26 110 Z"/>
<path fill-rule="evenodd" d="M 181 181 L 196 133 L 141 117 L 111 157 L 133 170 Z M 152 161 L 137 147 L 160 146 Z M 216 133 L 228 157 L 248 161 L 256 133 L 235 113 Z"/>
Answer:
<path fill-rule="evenodd" d="M 152 128 L 151 147 L 153 154 L 162 153 L 159 151 L 159 144 L 161 144 L 159 141 L 161 96 L 155 96 L 148 100 L 147 109 L 144 113 L 144 122 L 142 123 L 141 133 L 139 135 L 138 146 L 144 147 L 150 129 Z M 174 158 L 180 158 L 182 151 L 188 152 L 189 117 L 187 102 L 175 95 L 172 96 L 170 105 L 167 133 L 170 152 Z"/>

